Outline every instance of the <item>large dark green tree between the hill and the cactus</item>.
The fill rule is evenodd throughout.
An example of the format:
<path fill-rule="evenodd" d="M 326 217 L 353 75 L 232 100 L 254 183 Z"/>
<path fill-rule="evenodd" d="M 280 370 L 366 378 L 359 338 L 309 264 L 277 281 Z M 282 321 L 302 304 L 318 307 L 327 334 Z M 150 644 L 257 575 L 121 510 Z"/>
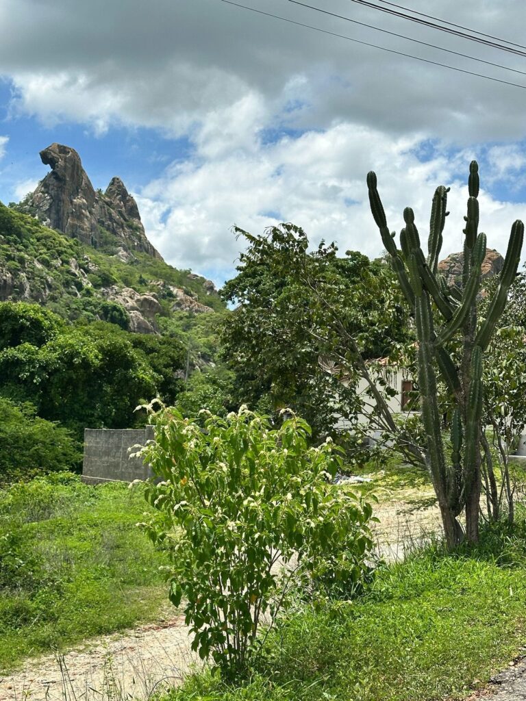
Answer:
<path fill-rule="evenodd" d="M 309 252 L 306 234 L 292 224 L 262 236 L 238 233 L 248 250 L 224 286 L 236 309 L 221 337 L 238 376 L 238 400 L 265 410 L 290 406 L 315 435 L 326 435 L 338 415 L 353 418 L 361 408 L 357 354 L 382 358 L 407 339 L 391 268 L 358 252 L 338 257 L 335 245 Z"/>

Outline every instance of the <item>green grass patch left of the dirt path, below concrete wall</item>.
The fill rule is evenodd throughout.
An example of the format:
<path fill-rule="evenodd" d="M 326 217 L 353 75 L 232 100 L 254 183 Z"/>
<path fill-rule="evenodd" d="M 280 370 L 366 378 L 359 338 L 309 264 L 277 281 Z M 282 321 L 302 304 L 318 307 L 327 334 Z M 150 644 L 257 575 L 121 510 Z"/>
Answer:
<path fill-rule="evenodd" d="M 0 490 L 0 672 L 159 618 L 163 554 L 135 526 L 146 509 L 140 489 L 66 473 Z"/>

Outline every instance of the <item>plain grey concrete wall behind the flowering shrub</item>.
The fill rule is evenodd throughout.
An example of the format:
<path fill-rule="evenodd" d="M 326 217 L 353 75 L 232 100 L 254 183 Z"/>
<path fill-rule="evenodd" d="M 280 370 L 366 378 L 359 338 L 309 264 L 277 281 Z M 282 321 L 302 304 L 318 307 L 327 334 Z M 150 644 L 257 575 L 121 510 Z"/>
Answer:
<path fill-rule="evenodd" d="M 134 479 L 151 477 L 151 470 L 140 458 L 130 458 L 129 449 L 154 437 L 152 426 L 140 429 L 86 428 L 84 430 L 84 459 L 82 479 L 96 484 L 119 479 L 133 482 Z M 137 449 L 132 452 L 137 452 Z"/>

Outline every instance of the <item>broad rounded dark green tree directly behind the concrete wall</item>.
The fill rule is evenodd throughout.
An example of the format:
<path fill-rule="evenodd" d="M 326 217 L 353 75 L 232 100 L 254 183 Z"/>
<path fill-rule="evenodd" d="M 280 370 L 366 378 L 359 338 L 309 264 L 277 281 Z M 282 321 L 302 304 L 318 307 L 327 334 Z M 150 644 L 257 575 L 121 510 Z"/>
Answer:
<path fill-rule="evenodd" d="M 42 346 L 0 351 L 0 393 L 32 402 L 39 416 L 82 435 L 86 427 L 129 428 L 159 377 L 112 325 L 65 327 Z"/>

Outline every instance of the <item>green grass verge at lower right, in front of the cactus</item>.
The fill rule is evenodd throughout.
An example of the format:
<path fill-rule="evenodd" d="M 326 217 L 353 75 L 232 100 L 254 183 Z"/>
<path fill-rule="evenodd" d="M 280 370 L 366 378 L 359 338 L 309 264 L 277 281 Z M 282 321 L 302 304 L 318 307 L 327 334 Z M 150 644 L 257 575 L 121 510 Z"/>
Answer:
<path fill-rule="evenodd" d="M 431 701 L 482 686 L 526 634 L 526 524 L 477 550 L 439 545 L 379 572 L 351 603 L 288 615 L 250 679 L 195 674 L 169 701 Z"/>

